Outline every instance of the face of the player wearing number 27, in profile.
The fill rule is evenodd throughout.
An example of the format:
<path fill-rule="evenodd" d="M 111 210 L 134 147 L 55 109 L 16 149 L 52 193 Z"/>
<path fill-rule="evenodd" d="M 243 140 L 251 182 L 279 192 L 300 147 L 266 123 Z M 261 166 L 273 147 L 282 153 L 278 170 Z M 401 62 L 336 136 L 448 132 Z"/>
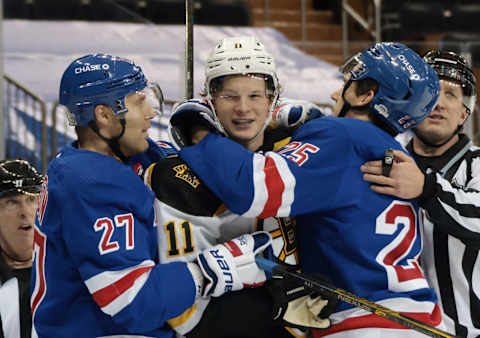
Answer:
<path fill-rule="evenodd" d="M 125 97 L 125 133 L 119 140 L 120 149 L 125 156 L 132 156 L 147 150 L 150 120 L 155 116 L 152 106 L 143 93 L 136 92 Z"/>

